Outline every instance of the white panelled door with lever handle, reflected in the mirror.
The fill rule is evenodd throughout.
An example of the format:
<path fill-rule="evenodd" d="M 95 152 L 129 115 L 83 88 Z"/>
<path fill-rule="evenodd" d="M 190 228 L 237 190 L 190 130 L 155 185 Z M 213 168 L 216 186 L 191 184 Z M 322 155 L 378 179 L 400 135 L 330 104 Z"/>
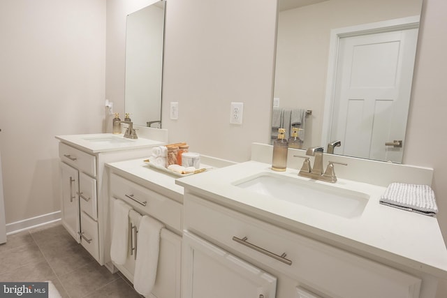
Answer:
<path fill-rule="evenodd" d="M 341 154 L 402 162 L 418 29 L 340 38 L 330 140 Z"/>

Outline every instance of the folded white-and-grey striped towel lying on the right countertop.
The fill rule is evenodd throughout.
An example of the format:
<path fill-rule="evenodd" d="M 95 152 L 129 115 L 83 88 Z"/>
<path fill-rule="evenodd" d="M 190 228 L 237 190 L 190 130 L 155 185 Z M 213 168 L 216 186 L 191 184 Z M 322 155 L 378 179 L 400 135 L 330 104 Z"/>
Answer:
<path fill-rule="evenodd" d="M 381 195 L 380 203 L 429 216 L 438 212 L 434 192 L 427 185 L 392 183 Z"/>

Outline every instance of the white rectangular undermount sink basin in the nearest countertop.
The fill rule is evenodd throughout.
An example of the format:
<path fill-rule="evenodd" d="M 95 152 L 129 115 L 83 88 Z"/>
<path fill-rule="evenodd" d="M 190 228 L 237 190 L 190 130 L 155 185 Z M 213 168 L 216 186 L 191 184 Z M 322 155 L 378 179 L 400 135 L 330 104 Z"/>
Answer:
<path fill-rule="evenodd" d="M 360 216 L 369 199 L 366 193 L 270 172 L 235 181 L 233 185 L 344 218 Z"/>

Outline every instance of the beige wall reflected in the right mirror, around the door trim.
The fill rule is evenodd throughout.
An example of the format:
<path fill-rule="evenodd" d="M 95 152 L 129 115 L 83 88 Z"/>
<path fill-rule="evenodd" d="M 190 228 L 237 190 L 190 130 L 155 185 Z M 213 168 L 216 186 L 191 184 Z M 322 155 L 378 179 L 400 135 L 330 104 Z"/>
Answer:
<path fill-rule="evenodd" d="M 331 0 L 279 13 L 274 97 L 312 110 L 305 147 L 321 145 L 331 29 L 420 15 L 422 0 Z"/>

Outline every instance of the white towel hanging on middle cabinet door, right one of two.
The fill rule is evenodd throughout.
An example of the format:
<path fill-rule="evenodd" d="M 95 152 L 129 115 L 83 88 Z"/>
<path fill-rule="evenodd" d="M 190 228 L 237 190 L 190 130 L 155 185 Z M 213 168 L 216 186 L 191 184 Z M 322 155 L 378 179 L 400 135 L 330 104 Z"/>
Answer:
<path fill-rule="evenodd" d="M 133 274 L 133 288 L 141 295 L 152 292 L 159 264 L 160 232 L 164 227 L 155 218 L 142 216 L 138 230 L 137 260 Z"/>

